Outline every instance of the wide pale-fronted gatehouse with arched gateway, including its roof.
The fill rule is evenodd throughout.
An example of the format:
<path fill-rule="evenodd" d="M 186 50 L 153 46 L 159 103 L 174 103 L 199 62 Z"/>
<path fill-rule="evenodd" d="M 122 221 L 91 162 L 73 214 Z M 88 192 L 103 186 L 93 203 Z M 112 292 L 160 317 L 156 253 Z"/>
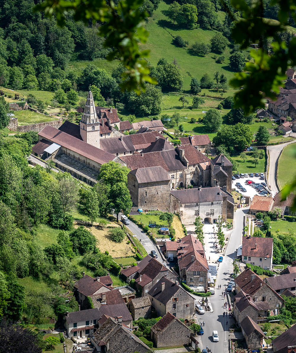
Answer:
<path fill-rule="evenodd" d="M 170 212 L 179 213 L 184 225 L 192 225 L 197 216 L 212 224 L 219 216 L 233 218 L 234 199 L 219 187 L 172 190 Z"/>

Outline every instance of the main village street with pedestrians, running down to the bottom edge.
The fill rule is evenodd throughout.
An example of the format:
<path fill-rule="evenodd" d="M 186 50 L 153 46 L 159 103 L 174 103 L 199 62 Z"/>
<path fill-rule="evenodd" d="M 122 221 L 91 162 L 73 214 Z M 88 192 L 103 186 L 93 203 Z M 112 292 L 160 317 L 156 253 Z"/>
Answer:
<path fill-rule="evenodd" d="M 236 249 L 242 243 L 242 231 L 243 231 L 243 215 L 248 212 L 247 208 L 240 208 L 235 211 L 234 214 L 234 229 L 231 232 L 228 246 L 223 257 L 223 262 L 219 264 L 217 280 L 215 284 L 215 294 L 211 295 L 210 301 L 212 304 L 213 312 L 205 312 L 204 315 L 196 315 L 197 322 L 200 324 L 201 321 L 205 322 L 204 335 L 198 336 L 197 340 L 200 342 L 200 349 L 208 346 L 213 353 L 228 353 L 228 339 L 229 339 L 229 317 L 223 317 L 225 311 L 224 297 L 222 297 L 222 291 L 225 290 L 225 286 L 230 281 L 230 274 L 232 273 L 232 261 L 236 258 Z M 221 285 L 221 289 L 218 289 L 218 285 Z M 201 298 L 199 298 L 201 299 Z M 233 320 L 233 319 L 232 319 Z M 226 325 L 228 321 L 228 325 Z M 218 331 L 219 342 L 213 342 L 212 333 L 213 330 Z"/>

